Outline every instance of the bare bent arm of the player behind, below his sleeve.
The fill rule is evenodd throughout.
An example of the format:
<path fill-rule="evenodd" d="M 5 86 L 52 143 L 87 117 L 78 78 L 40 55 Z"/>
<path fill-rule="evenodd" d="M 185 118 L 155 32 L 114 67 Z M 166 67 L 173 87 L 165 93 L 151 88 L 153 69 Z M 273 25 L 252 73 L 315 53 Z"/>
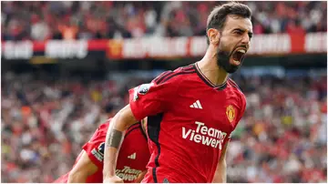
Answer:
<path fill-rule="evenodd" d="M 78 159 L 77 164 L 69 172 L 68 183 L 86 183 L 87 177 L 97 172 L 97 166 L 87 156 L 83 150 L 82 156 Z"/>

